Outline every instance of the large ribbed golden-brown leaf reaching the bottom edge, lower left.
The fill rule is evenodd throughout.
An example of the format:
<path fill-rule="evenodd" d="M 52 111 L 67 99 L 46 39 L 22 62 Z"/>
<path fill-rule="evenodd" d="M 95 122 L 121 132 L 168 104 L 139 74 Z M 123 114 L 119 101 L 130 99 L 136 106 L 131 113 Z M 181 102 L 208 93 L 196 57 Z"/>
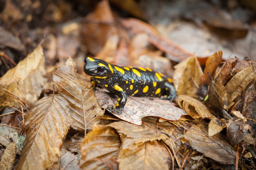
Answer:
<path fill-rule="evenodd" d="M 62 96 L 44 97 L 27 114 L 27 129 L 19 169 L 47 169 L 58 161 L 62 140 L 71 125 L 68 102 Z"/>

